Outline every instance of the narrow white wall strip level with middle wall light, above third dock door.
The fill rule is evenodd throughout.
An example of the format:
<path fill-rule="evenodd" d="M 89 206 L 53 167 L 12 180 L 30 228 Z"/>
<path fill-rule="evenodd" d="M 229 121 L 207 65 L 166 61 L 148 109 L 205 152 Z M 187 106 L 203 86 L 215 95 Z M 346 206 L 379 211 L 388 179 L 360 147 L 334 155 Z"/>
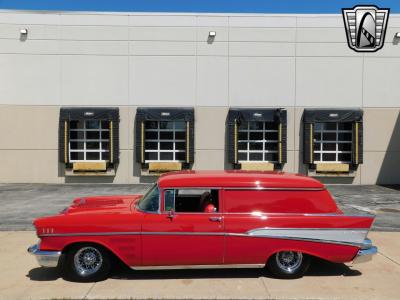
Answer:
<path fill-rule="evenodd" d="M 295 42 L 295 28 L 232 27 L 229 29 L 232 42 Z"/>

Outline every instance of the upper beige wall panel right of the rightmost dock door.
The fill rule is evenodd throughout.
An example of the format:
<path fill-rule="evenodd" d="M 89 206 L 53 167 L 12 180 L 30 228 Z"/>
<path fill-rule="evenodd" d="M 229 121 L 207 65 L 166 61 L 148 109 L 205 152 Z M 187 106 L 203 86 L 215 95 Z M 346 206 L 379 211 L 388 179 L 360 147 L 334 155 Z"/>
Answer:
<path fill-rule="evenodd" d="M 400 110 L 364 108 L 364 151 L 400 151 Z"/>

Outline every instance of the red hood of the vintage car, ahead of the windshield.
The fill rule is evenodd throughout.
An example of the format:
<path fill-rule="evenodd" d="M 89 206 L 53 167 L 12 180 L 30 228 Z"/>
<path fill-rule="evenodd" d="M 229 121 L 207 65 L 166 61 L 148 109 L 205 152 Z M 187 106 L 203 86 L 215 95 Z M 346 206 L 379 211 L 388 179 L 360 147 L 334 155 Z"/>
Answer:
<path fill-rule="evenodd" d="M 117 195 L 76 198 L 62 213 L 127 213 L 141 197 L 142 195 Z"/>

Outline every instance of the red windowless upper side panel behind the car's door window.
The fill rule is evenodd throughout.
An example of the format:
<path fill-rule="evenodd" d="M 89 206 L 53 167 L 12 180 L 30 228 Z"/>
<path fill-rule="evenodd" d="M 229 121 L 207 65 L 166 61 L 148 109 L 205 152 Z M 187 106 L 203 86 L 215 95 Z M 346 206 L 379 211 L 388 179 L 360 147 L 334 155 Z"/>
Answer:
<path fill-rule="evenodd" d="M 337 206 L 327 190 L 226 190 L 228 213 L 335 213 Z"/>

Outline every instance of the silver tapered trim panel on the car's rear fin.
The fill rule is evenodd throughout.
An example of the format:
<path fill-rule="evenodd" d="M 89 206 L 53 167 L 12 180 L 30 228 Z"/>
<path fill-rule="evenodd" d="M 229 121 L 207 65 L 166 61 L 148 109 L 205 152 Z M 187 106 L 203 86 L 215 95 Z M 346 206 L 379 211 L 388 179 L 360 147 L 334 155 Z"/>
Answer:
<path fill-rule="evenodd" d="M 250 236 L 287 238 L 329 243 L 362 245 L 369 229 L 342 228 L 257 228 L 247 232 Z"/>

